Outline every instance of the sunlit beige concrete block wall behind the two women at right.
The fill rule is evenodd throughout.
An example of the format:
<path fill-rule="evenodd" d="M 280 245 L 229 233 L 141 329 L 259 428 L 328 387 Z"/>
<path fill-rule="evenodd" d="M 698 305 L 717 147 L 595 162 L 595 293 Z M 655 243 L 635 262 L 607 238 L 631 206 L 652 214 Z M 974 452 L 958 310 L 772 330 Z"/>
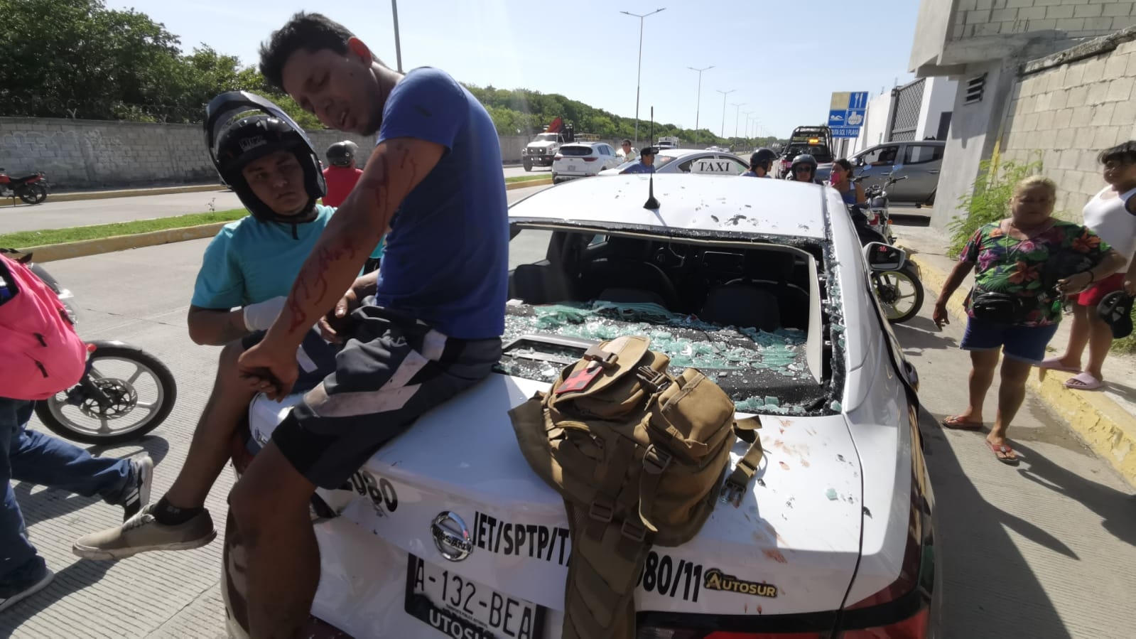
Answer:
<path fill-rule="evenodd" d="M 1079 222 L 1085 202 L 1104 186 L 1097 153 L 1136 139 L 1136 40 L 1068 64 L 1042 60 L 1025 68 L 1002 123 L 1002 157 L 1041 159 L 1058 183 L 1059 214 Z"/>

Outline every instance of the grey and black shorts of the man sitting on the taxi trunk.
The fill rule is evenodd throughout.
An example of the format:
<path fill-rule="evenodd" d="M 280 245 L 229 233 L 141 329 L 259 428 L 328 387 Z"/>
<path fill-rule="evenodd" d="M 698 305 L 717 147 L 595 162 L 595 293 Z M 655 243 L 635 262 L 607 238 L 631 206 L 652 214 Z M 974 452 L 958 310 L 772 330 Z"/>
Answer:
<path fill-rule="evenodd" d="M 273 432 L 295 470 L 326 489 L 342 487 L 384 443 L 487 377 L 501 358 L 499 338 L 448 338 L 386 308 L 364 306 L 351 320 L 342 346 L 304 338 L 294 389 L 310 390 Z M 261 337 L 249 335 L 245 348 Z"/>

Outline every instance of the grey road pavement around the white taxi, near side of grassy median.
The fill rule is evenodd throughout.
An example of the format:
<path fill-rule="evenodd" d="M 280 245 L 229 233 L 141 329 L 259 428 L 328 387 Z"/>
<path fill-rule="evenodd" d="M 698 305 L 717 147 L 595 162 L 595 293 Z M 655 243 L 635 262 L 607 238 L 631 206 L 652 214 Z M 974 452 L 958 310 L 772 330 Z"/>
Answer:
<path fill-rule="evenodd" d="M 154 498 L 184 460 L 219 350 L 193 345 L 185 329 L 206 243 L 49 265 L 76 293 L 85 338 L 141 346 L 166 362 L 177 379 L 177 406 L 161 428 L 140 445 L 99 450 L 115 456 L 148 450 L 158 462 Z M 540 252 L 538 247 L 524 247 L 524 255 Z M 983 443 L 984 433 L 942 430 L 937 420 L 964 405 L 969 363 L 957 348 L 962 322 L 955 318 L 937 331 L 930 307 L 928 298 L 919 316 L 896 326 L 895 333 L 922 379 L 921 429 L 936 498 L 936 558 L 944 576 L 941 636 L 1133 637 L 1131 488 L 1031 397 L 1010 431 L 1022 457 L 1019 467 L 996 462 Z M 991 405 L 996 392 L 995 383 Z M 218 524 L 225 518 L 231 484 L 226 472 L 207 504 Z M 223 636 L 219 540 L 185 553 L 78 562 L 70 554 L 73 539 L 116 524 L 120 511 L 26 484 L 16 484 L 15 491 L 32 540 L 58 576 L 43 592 L 0 615 L 0 637 Z"/>

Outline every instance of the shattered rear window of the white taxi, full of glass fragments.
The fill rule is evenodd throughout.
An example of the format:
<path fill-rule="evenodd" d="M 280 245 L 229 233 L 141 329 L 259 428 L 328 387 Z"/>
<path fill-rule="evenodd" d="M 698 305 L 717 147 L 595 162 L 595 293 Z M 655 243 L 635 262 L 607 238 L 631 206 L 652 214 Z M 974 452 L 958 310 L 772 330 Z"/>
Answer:
<path fill-rule="evenodd" d="M 819 243 L 512 224 L 500 372 L 552 382 L 590 345 L 651 338 L 745 413 L 838 406 Z"/>

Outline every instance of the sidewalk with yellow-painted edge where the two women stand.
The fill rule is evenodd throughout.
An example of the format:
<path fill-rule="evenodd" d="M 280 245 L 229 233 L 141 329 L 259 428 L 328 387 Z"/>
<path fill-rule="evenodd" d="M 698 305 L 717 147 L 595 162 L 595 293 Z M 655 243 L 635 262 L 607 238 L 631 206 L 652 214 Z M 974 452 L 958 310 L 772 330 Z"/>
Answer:
<path fill-rule="evenodd" d="M 934 305 L 955 260 L 946 257 L 946 231 L 928 226 L 895 226 L 897 243 L 920 269 L 926 299 Z M 974 276 L 951 298 L 952 322 L 964 323 L 962 300 L 974 284 Z M 1070 320 L 1066 316 L 1050 342 L 1049 351 L 1060 354 L 1069 341 Z M 1086 354 L 1087 356 L 1087 354 Z M 1070 373 L 1047 371 L 1044 381 L 1031 374 L 1029 388 L 1054 414 L 1068 423 L 1102 458 L 1136 486 L 1136 357 L 1109 354 L 1104 362 L 1105 388 L 1100 391 L 1067 389 Z"/>

